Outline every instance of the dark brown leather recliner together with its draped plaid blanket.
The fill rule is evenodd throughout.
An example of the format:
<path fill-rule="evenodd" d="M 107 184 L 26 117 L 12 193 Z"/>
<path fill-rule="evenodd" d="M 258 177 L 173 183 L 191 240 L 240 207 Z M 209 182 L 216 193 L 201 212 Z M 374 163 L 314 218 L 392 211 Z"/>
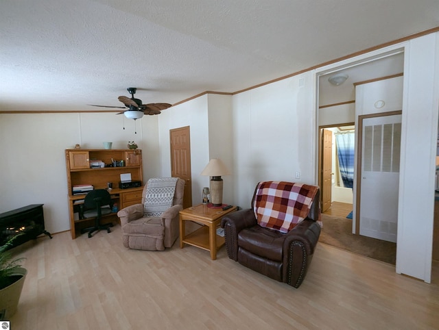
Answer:
<path fill-rule="evenodd" d="M 298 288 L 320 236 L 319 194 L 317 186 L 259 182 L 250 209 L 222 218 L 228 257 Z"/>

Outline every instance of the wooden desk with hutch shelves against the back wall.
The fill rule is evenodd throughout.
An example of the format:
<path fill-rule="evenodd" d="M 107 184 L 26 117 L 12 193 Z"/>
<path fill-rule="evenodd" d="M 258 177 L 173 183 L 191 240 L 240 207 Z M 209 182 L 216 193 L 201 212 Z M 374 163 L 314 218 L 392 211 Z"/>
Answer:
<path fill-rule="evenodd" d="M 77 238 L 82 228 L 93 225 L 93 218 L 80 219 L 79 210 L 85 194 L 73 194 L 73 186 L 91 185 L 94 189 L 106 189 L 107 183 L 112 183 L 108 190 L 111 198 L 117 203 L 119 210 L 123 207 L 141 203 L 143 190 L 142 151 L 139 149 L 66 149 L 67 188 L 69 191 L 69 217 L 71 238 Z M 113 160 L 123 160 L 124 166 L 110 167 Z M 103 168 L 91 168 L 92 163 L 103 162 Z M 120 189 L 121 174 L 131 174 L 132 181 L 141 181 L 142 186 L 137 188 Z M 104 218 L 113 217 L 117 221 L 117 214 L 111 213 Z M 103 220 L 104 221 L 104 220 Z M 107 221 L 108 222 L 108 221 Z"/>

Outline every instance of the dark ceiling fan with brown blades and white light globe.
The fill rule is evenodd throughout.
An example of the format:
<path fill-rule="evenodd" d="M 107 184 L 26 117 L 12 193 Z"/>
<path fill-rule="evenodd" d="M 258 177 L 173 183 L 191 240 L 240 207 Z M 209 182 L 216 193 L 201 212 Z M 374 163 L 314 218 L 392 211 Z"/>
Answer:
<path fill-rule="evenodd" d="M 129 119 L 139 119 L 143 117 L 143 114 L 161 114 L 161 110 L 165 110 L 168 107 L 171 107 L 171 104 L 169 103 L 148 103 L 148 104 L 142 104 L 142 100 L 135 99 L 134 94 L 136 94 L 137 88 L 135 87 L 128 87 L 126 90 L 131 94 L 131 99 L 129 97 L 118 97 L 119 101 L 121 101 L 125 107 L 119 107 L 121 109 L 125 109 L 126 107 L 128 110 L 125 110 L 123 112 L 119 112 L 118 114 L 124 114 L 126 118 Z M 88 104 L 92 105 L 93 107 L 113 107 L 110 105 L 96 105 L 96 104 Z"/>

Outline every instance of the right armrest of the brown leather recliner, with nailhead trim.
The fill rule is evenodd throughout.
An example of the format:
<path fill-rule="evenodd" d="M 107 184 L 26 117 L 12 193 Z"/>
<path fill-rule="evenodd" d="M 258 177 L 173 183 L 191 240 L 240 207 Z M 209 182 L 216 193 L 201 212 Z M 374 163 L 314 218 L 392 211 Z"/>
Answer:
<path fill-rule="evenodd" d="M 298 288 L 305 278 L 320 236 L 320 225 L 309 218 L 285 234 L 283 279 Z"/>

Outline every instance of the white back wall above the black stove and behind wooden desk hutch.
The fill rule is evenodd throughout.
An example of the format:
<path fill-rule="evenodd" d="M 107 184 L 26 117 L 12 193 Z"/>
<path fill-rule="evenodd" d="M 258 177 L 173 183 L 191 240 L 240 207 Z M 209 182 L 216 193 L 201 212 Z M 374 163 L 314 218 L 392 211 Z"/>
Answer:
<path fill-rule="evenodd" d="M 142 147 L 141 125 L 114 113 L 0 114 L 0 212 L 44 204 L 45 227 L 51 233 L 70 229 L 64 149 Z"/>

